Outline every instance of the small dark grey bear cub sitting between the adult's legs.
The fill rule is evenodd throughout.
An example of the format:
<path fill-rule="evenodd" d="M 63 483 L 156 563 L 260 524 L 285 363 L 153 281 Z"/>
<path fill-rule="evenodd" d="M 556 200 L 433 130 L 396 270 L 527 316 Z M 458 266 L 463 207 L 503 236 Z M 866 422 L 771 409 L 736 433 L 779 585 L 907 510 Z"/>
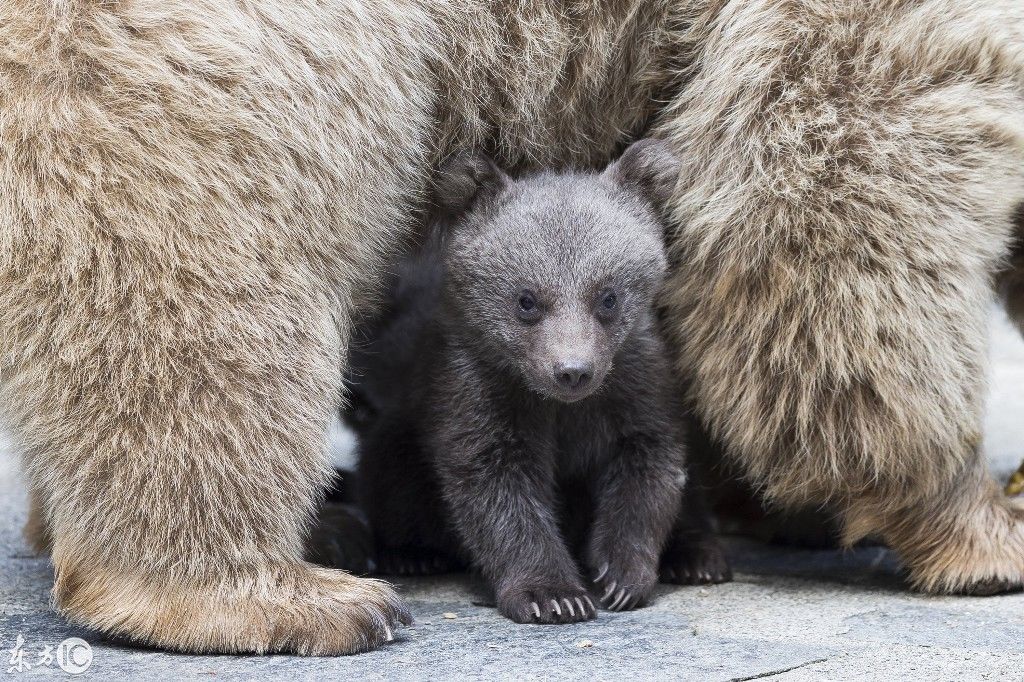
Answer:
<path fill-rule="evenodd" d="M 729 580 L 686 480 L 653 299 L 678 161 L 513 179 L 450 160 L 386 312 L 353 342 L 358 498 L 382 572 L 477 567 L 517 623 Z M 589 577 L 589 581 L 584 579 Z M 590 589 L 588 589 L 590 588 Z"/>

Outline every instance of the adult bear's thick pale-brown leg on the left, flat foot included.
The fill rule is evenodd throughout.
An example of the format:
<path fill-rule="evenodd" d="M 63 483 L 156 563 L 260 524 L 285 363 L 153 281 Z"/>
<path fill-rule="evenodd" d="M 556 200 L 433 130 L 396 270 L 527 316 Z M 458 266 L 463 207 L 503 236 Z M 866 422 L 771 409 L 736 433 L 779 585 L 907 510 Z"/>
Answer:
<path fill-rule="evenodd" d="M 434 38 L 386 4 L 0 10 L 0 379 L 74 621 L 333 654 L 407 620 L 302 560 L 351 315 L 428 165 Z"/>

